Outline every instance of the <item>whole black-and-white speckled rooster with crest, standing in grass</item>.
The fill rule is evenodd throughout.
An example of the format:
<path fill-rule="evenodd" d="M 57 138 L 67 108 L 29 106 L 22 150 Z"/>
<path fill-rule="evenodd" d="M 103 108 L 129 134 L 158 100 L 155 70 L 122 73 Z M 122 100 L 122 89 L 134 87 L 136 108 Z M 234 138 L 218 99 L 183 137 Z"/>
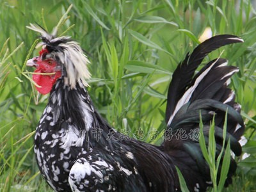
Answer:
<path fill-rule="evenodd" d="M 161 146 L 155 146 L 133 139 L 109 139 L 109 134 L 113 138 L 122 134 L 110 127 L 93 107 L 86 90 L 89 61 L 79 44 L 68 36 L 56 37 L 33 24 L 28 28 L 41 34 L 42 51 L 40 56 L 28 60 L 27 65 L 36 68 L 33 80 L 38 84 L 38 92 L 50 93 L 36 127 L 35 154 L 40 172 L 54 191 L 180 191 L 175 166 L 190 191 L 205 191 L 211 186 L 211 176 L 198 140 L 188 135 L 173 136 L 177 131 L 198 130 L 200 113 L 205 141 L 215 116 L 218 155 L 228 111 L 227 138 L 234 154 L 241 154 L 238 142 L 244 131 L 241 107 L 227 87 L 238 69 L 218 58 L 195 74 L 209 52 L 243 42 L 241 38 L 214 36 L 186 55 L 173 73 L 168 90 L 165 139 Z M 97 131 L 100 138 L 93 136 Z M 235 171 L 236 162 L 231 158 L 226 185 Z"/>

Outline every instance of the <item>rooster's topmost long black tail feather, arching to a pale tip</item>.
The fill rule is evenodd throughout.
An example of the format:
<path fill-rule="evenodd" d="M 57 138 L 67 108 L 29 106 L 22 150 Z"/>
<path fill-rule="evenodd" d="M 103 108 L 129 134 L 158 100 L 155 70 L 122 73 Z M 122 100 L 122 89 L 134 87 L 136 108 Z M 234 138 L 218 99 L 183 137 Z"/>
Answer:
<path fill-rule="evenodd" d="M 224 45 L 240 42 L 243 42 L 243 40 L 234 35 L 217 35 L 205 40 L 191 54 L 186 55 L 185 60 L 179 63 L 177 69 L 173 72 L 167 97 L 166 123 L 170 124 L 170 117 L 173 116 L 177 103 L 186 92 L 186 88 L 191 83 L 196 68 L 204 60 L 205 56 Z"/>

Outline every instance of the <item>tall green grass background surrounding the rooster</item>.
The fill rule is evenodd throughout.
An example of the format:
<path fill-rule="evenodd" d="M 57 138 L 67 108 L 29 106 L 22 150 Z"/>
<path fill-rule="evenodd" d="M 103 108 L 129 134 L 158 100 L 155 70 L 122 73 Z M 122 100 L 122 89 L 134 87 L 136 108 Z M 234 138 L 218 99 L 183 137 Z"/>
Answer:
<path fill-rule="evenodd" d="M 38 34 L 37 22 L 52 30 L 70 4 L 60 33 L 88 52 L 89 92 L 109 124 L 129 136 L 162 141 L 166 92 L 172 72 L 198 44 L 205 28 L 214 35 L 241 36 L 244 44 L 224 47 L 222 57 L 240 68 L 232 88 L 242 105 L 248 143 L 237 158 L 237 175 L 227 191 L 256 191 L 256 18 L 254 1 L 4 1 L 0 0 L 0 191 L 51 191 L 36 166 L 33 135 L 47 96 L 37 95 L 26 77 L 26 60 Z M 75 25 L 73 25 L 75 24 Z M 207 61 L 206 60 L 206 61 Z M 206 62 L 205 61 L 205 62 Z M 211 190 L 211 189 L 210 189 Z"/>

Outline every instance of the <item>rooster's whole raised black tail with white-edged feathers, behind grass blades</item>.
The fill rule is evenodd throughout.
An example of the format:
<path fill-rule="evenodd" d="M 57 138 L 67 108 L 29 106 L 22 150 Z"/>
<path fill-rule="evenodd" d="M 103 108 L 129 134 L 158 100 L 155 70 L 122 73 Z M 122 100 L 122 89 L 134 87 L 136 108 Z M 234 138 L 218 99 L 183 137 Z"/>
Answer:
<path fill-rule="evenodd" d="M 234 92 L 228 88 L 230 77 L 239 69 L 228 66 L 227 60 L 218 58 L 195 74 L 196 68 L 209 52 L 239 42 L 243 40 L 234 35 L 214 36 L 198 45 L 191 54 L 187 54 L 173 72 L 166 107 L 166 135 L 169 134 L 167 138 L 172 135 L 172 140 L 165 140 L 163 147 L 173 157 L 183 175 L 186 175 L 188 187 L 193 191 L 204 191 L 211 185 L 209 167 L 202 156 L 198 138 L 195 138 L 199 132 L 200 114 L 204 122 L 205 141 L 208 141 L 209 127 L 214 118 L 218 157 L 227 112 L 226 140 L 230 138 L 231 150 L 236 156 L 241 155 L 241 145 L 238 142 L 244 131 L 241 106 L 236 103 Z M 182 132 L 186 135 L 182 135 Z M 232 159 L 226 185 L 230 183 L 235 171 L 236 162 Z"/>

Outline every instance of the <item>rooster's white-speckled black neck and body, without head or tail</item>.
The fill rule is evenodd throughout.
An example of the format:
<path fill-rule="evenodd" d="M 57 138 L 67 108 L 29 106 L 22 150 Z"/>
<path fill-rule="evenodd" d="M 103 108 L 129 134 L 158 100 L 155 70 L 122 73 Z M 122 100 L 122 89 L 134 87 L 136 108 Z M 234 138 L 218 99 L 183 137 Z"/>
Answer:
<path fill-rule="evenodd" d="M 49 185 L 56 191 L 71 191 L 68 180 L 73 183 L 73 189 L 88 189 L 89 191 L 157 191 L 170 186 L 170 178 L 164 180 L 161 175 L 148 174 L 152 166 L 162 165 L 160 172 L 173 177 L 173 166 L 167 166 L 172 159 L 167 156 L 161 147 L 125 138 L 114 140 L 107 134 L 112 131 L 111 136 L 121 138 L 120 133 L 109 127 L 109 125 L 94 110 L 93 104 L 84 88 L 77 86 L 77 90 L 63 90 L 63 79 L 59 79 L 51 93 L 49 104 L 44 110 L 40 123 L 36 128 L 35 154 L 38 167 Z M 78 95 L 77 93 L 83 94 Z M 68 98 L 68 99 L 67 99 Z M 86 98 L 86 99 L 85 99 Z M 74 105 L 76 100 L 77 106 Z M 79 102 L 80 101 L 80 102 Z M 72 107 L 69 108 L 71 102 Z M 93 122 L 87 122 L 88 131 L 83 131 L 86 122 L 77 124 L 76 120 L 84 115 L 81 102 L 87 106 L 93 116 Z M 80 104 L 79 104 L 80 103 Z M 79 109 L 80 108 L 80 109 Z M 68 112 L 67 112 L 68 111 Z M 72 114 L 72 115 L 71 115 Z M 76 128 L 75 128 L 76 127 Z M 93 134 L 93 130 L 103 129 L 100 138 Z M 72 134 L 71 134 L 72 132 Z M 105 133 L 105 134 L 104 134 Z M 68 135 L 70 138 L 67 139 Z M 80 142 L 79 138 L 83 139 Z M 78 141 L 78 142 L 77 142 Z M 134 153 L 134 151 L 136 151 Z M 143 154 L 154 154 L 145 162 Z M 140 156 L 139 158 L 136 156 Z M 160 161 L 160 162 L 159 162 Z M 166 161 L 166 163 L 163 163 Z M 141 164 L 140 164 L 141 162 Z M 138 166 L 140 165 L 140 166 Z M 148 175 L 145 184 L 144 175 Z M 89 176 L 88 178 L 86 176 Z M 150 180 L 151 179 L 151 180 Z M 174 178 L 173 178 L 174 180 Z M 136 185 L 134 185 L 136 184 Z M 179 184 L 173 182 L 173 189 Z M 166 190 L 165 190 L 166 191 Z"/>

